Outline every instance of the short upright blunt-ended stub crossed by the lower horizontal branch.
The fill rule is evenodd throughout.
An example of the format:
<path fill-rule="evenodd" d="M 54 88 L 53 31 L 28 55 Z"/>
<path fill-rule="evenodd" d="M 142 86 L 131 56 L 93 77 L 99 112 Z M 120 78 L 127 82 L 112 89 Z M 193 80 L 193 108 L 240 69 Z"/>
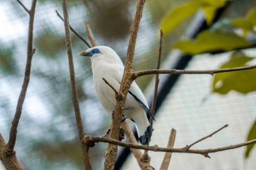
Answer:
<path fill-rule="evenodd" d="M 170 137 L 168 140 L 167 148 L 173 148 L 174 142 L 176 138 L 176 130 L 172 128 L 170 131 Z M 172 153 L 165 153 L 164 154 L 164 159 L 162 160 L 162 164 L 160 167 L 160 170 L 167 170 L 168 166 L 170 165 L 170 158 L 172 157 Z"/>

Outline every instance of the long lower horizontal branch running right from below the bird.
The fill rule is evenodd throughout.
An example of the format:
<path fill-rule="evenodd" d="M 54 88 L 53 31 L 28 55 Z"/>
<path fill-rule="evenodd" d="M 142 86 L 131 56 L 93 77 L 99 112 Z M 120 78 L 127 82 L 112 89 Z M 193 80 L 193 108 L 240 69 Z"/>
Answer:
<path fill-rule="evenodd" d="M 205 157 L 209 157 L 209 153 L 217 153 L 220 151 L 226 151 L 234 148 L 240 148 L 242 146 L 247 146 L 249 144 L 255 144 L 256 139 L 254 140 L 249 140 L 247 142 L 242 142 L 239 144 L 233 144 L 229 146 L 223 146 L 219 148 L 207 148 L 207 149 L 185 149 L 185 148 L 163 148 L 159 147 L 157 145 L 154 146 L 148 146 L 148 145 L 141 145 L 141 144 L 133 144 L 129 142 L 121 142 L 119 140 L 115 140 L 112 138 L 107 138 L 107 137 L 98 137 L 98 136 L 84 136 L 83 142 L 90 141 L 90 142 L 105 142 L 105 143 L 111 143 L 115 144 L 118 146 L 124 146 L 124 147 L 129 147 L 129 148 L 139 148 L 143 150 L 148 150 L 148 151 L 154 151 L 154 152 L 168 152 L 168 153 L 194 153 L 194 154 L 199 154 L 203 155 Z"/>

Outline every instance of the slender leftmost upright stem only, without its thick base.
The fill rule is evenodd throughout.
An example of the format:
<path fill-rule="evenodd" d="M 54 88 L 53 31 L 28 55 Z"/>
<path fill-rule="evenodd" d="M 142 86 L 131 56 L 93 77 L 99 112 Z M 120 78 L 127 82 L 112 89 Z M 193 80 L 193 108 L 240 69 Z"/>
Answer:
<path fill-rule="evenodd" d="M 25 9 L 26 10 L 26 9 Z M 34 14 L 36 11 L 36 0 L 32 1 L 31 9 L 29 12 L 30 21 L 28 25 L 28 46 L 27 46 L 27 61 L 26 61 L 26 69 L 24 74 L 24 81 L 22 84 L 22 90 L 20 91 L 20 96 L 18 99 L 18 103 L 16 106 L 15 116 L 13 118 L 11 124 L 11 130 L 9 132 L 9 140 L 7 142 L 7 150 L 12 153 L 13 148 L 16 142 L 17 136 L 17 128 L 20 121 L 20 116 L 22 116 L 22 106 L 26 97 L 26 92 L 28 89 L 28 84 L 30 81 L 30 70 L 31 70 L 31 63 L 32 63 L 32 56 L 33 56 L 33 28 L 34 28 Z"/>

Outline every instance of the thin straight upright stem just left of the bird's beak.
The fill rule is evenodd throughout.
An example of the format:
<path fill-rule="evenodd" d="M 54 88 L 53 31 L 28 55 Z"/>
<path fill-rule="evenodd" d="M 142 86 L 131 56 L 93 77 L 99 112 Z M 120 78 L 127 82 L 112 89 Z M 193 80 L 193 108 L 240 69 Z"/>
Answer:
<path fill-rule="evenodd" d="M 72 47 L 71 47 L 71 37 L 69 31 L 69 17 L 67 13 L 67 3 L 63 0 L 63 16 L 64 16 L 64 24 L 65 24 L 65 42 L 67 47 L 67 56 L 69 60 L 69 74 L 70 74 L 70 81 L 71 81 L 71 92 L 72 92 L 72 101 L 73 107 L 75 110 L 75 120 L 77 123 L 77 131 L 79 134 L 80 142 L 82 143 L 83 136 L 85 135 L 84 132 L 84 125 L 82 122 L 82 117 L 79 108 L 78 96 L 77 96 L 77 89 L 75 86 L 75 69 L 73 66 L 73 54 L 72 54 Z M 86 170 L 92 169 L 92 165 L 90 164 L 90 158 L 88 155 L 88 146 L 87 144 L 81 144 L 83 158 L 84 158 L 84 167 Z"/>

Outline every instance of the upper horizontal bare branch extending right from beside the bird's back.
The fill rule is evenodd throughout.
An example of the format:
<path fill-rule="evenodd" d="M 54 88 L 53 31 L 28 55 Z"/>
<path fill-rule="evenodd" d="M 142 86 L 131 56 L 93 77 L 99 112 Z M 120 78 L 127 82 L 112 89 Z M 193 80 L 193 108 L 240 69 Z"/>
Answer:
<path fill-rule="evenodd" d="M 245 66 L 245 67 L 235 67 L 235 68 L 231 68 L 231 69 L 213 69 L 213 70 L 204 70 L 204 71 L 186 71 L 186 70 L 176 70 L 176 69 L 170 69 L 170 70 L 152 69 L 152 70 L 145 70 L 145 71 L 135 71 L 133 74 L 133 79 L 137 79 L 137 77 L 141 77 L 143 75 L 153 75 L 153 74 L 214 75 L 216 73 L 226 73 L 226 72 L 232 72 L 232 71 L 245 71 L 245 70 L 250 70 L 250 69 L 255 69 L 255 68 L 256 68 L 256 65 Z"/>

